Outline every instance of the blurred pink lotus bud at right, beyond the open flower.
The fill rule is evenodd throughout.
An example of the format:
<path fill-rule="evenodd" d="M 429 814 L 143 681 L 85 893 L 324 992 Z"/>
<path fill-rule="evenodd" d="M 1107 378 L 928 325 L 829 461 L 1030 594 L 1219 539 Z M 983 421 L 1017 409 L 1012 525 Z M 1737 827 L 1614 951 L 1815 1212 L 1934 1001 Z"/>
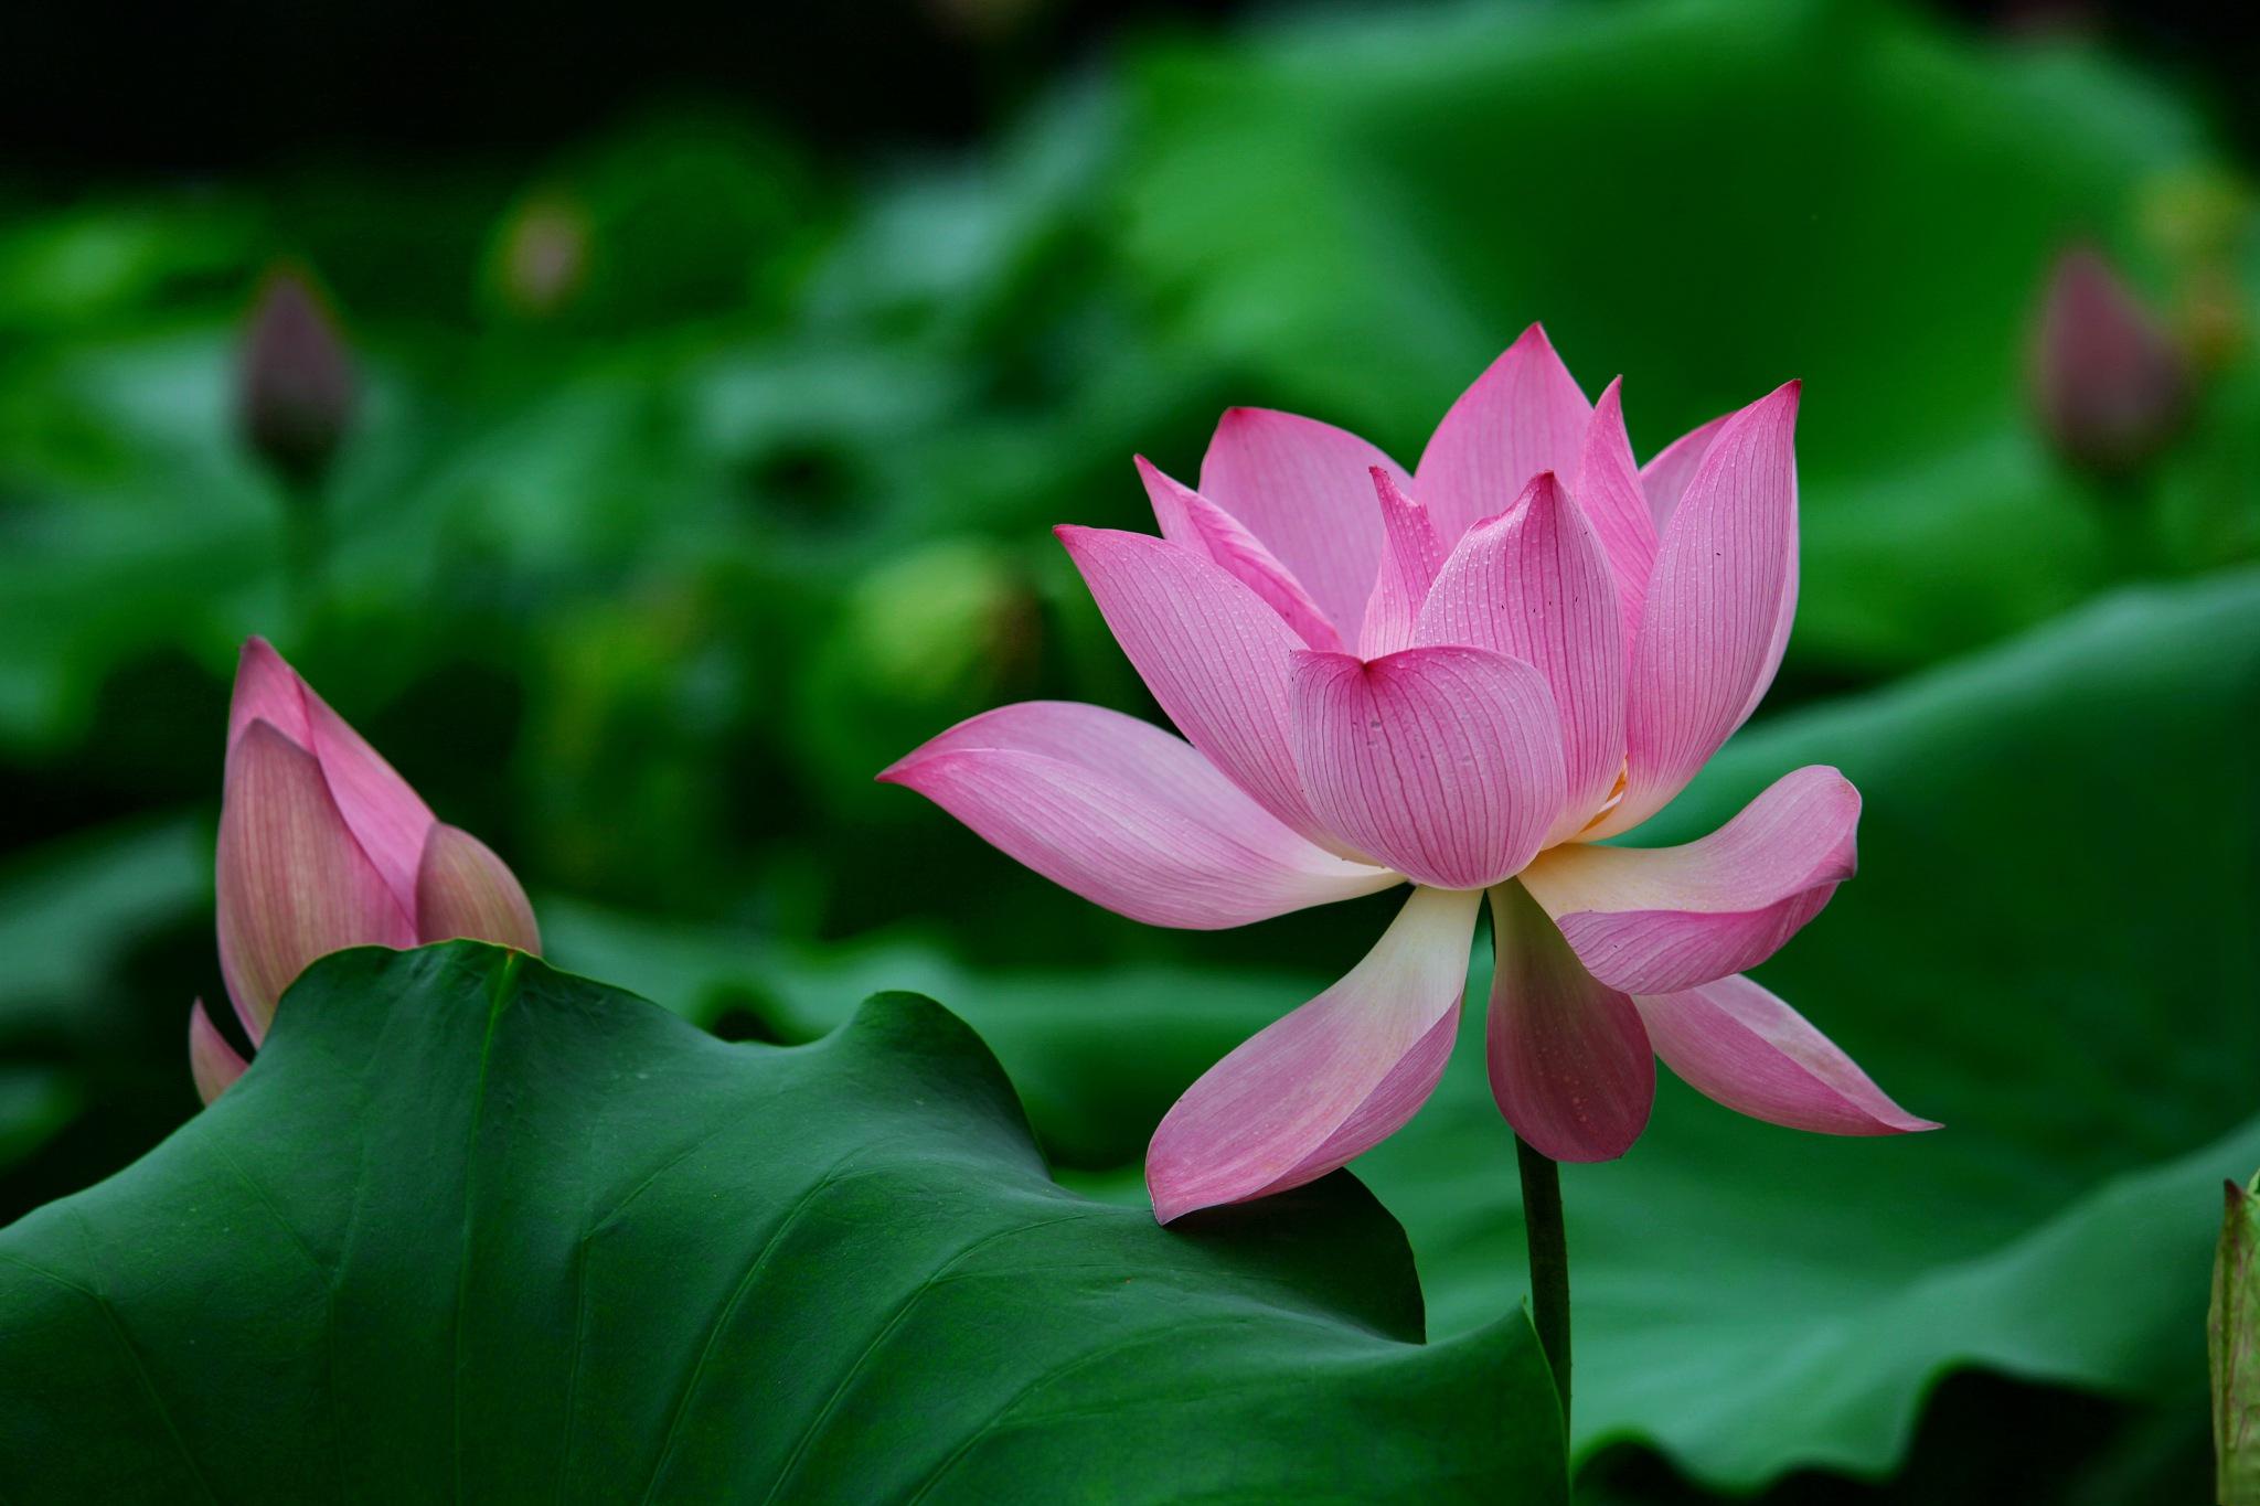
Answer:
<path fill-rule="evenodd" d="M 2032 388 L 2057 449 L 2104 474 L 2158 454 L 2190 395 L 2181 352 L 2088 246 L 2066 251 L 2048 282 Z"/>

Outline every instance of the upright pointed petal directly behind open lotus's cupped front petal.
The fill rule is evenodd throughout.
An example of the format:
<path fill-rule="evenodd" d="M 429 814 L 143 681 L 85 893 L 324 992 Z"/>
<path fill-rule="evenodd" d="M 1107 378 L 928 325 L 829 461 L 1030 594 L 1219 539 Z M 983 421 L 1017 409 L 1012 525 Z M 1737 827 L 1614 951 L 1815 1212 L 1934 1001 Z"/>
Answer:
<path fill-rule="evenodd" d="M 1550 840 L 1575 835 L 1625 763 L 1625 634 L 1600 535 L 1577 499 L 1541 474 L 1501 517 L 1451 551 L 1419 643 L 1464 643 L 1539 671 L 1562 727 L 1566 797 Z"/>

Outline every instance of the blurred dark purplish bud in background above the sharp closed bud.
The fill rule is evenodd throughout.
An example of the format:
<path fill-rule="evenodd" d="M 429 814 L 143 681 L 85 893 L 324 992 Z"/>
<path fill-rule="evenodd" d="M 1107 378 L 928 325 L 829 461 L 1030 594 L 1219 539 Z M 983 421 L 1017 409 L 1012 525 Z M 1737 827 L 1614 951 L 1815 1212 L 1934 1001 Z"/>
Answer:
<path fill-rule="evenodd" d="M 294 266 L 260 287 L 244 334 L 237 422 L 244 440 L 294 490 L 321 483 L 353 424 L 359 384 L 337 318 Z"/>

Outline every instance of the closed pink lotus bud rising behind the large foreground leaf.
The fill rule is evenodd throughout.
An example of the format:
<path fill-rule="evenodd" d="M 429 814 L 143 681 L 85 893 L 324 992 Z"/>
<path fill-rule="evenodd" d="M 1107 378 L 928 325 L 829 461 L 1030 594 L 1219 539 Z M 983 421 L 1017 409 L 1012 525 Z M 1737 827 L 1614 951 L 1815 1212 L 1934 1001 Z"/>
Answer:
<path fill-rule="evenodd" d="M 502 858 L 438 822 L 264 639 L 244 643 L 219 808 L 219 973 L 244 1034 L 267 1036 L 314 957 L 454 937 L 542 948 Z M 201 998 L 188 1063 L 203 1102 L 244 1072 Z"/>

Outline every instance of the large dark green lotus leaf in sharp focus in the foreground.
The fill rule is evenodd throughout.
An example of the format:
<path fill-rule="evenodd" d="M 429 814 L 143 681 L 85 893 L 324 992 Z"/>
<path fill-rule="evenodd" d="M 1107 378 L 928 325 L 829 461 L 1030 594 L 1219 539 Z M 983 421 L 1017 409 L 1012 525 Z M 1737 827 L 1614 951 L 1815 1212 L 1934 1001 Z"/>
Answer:
<path fill-rule="evenodd" d="M 728 1045 L 477 944 L 344 953 L 0 1233 L 9 1499 L 1559 1501 L 1519 1312 L 1422 1341 L 1347 1176 L 1060 1190 L 956 1018 Z"/>

